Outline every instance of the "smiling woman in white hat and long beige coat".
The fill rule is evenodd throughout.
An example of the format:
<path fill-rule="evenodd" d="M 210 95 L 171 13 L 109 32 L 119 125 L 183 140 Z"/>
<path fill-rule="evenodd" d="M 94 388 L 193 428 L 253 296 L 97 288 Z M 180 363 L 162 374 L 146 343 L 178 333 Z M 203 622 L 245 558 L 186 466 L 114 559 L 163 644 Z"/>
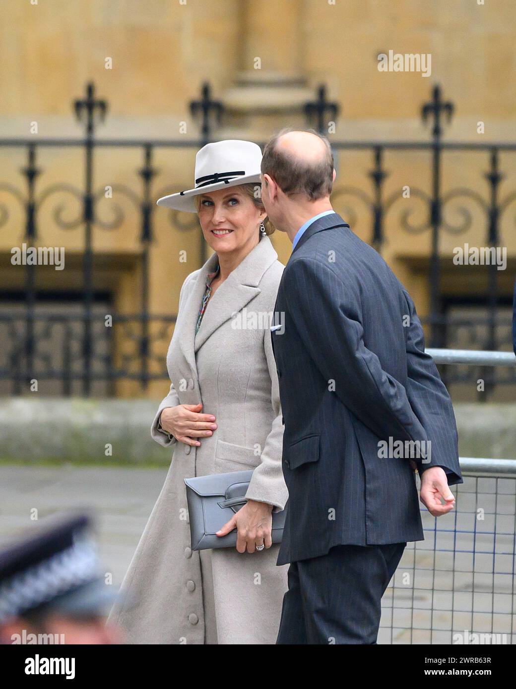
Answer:
<path fill-rule="evenodd" d="M 209 143 L 195 187 L 157 202 L 197 212 L 215 253 L 179 296 L 170 391 L 151 429 L 172 462 L 122 584 L 138 602 L 109 618 L 131 644 L 276 641 L 288 566 L 276 566 L 270 526 L 288 493 L 270 316 L 284 266 L 268 238 L 260 163 L 255 143 Z M 237 548 L 192 553 L 184 479 L 245 469 L 248 502 L 221 532 L 236 527 Z"/>

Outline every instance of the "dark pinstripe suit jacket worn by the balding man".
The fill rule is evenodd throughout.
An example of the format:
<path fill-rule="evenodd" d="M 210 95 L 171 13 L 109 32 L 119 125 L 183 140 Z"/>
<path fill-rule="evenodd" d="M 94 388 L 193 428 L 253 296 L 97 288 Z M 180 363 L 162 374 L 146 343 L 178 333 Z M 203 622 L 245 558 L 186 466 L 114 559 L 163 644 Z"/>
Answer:
<path fill-rule="evenodd" d="M 410 441 L 427 453 L 414 457 L 420 472 L 438 465 L 449 484 L 462 477 L 451 400 L 406 289 L 328 214 L 292 251 L 274 325 L 283 325 L 271 338 L 289 493 L 278 564 L 339 544 L 422 540 Z M 380 441 L 403 442 L 404 456 L 384 457 Z"/>

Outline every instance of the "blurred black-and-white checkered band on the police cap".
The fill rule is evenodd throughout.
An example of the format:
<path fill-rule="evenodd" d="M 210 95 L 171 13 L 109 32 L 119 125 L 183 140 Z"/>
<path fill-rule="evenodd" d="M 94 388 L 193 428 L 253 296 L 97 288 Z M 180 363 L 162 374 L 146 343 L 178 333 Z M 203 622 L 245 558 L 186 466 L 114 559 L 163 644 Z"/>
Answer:
<path fill-rule="evenodd" d="M 95 579 L 95 544 L 87 539 L 12 575 L 0 584 L 0 624 L 52 598 Z"/>

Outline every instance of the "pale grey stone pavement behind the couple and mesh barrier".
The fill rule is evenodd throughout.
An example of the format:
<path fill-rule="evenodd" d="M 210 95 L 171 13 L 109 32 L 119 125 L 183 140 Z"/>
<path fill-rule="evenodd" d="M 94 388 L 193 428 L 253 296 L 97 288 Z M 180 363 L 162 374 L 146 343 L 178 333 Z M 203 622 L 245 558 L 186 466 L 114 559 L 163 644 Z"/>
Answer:
<path fill-rule="evenodd" d="M 101 562 L 118 587 L 166 472 L 2 464 L 0 544 L 30 530 L 34 511 L 42 520 L 70 508 L 91 508 L 97 515 Z M 432 533 L 435 522 L 426 513 L 425 542 L 416 548 L 408 544 L 394 586 L 384 596 L 380 644 L 450 644 L 452 634 L 464 630 L 493 630 L 505 633 L 506 643 L 516 642 L 515 480 L 466 479 L 460 488 L 457 515 L 441 517 Z M 472 531 L 479 505 L 485 506 L 486 519 L 474 528 L 484 534 Z"/>

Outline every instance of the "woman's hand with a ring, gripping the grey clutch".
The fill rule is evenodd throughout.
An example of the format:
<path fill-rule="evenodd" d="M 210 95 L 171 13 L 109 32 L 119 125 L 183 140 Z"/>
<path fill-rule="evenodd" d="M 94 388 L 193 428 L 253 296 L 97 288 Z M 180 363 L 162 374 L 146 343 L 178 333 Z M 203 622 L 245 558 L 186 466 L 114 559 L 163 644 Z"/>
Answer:
<path fill-rule="evenodd" d="M 217 531 L 217 536 L 225 536 L 234 528 L 238 529 L 237 551 L 254 553 L 256 546 L 272 546 L 272 505 L 257 500 L 248 500 L 229 522 Z"/>

